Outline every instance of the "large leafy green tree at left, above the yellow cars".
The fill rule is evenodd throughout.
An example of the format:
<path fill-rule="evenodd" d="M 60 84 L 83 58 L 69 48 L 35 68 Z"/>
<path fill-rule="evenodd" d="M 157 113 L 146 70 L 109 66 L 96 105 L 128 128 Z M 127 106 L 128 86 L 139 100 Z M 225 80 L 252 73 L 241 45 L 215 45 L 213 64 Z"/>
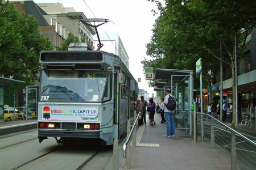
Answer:
<path fill-rule="evenodd" d="M 0 2 L 0 75 L 32 84 L 38 79 L 39 54 L 51 50 L 51 41 L 39 33 L 38 22 L 19 14 L 9 2 Z"/>

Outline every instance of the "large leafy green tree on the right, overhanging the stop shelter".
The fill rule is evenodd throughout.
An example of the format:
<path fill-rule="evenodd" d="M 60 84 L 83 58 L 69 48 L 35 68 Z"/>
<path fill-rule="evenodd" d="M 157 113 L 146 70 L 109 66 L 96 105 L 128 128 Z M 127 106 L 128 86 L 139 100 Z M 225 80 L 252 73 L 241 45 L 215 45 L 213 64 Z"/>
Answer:
<path fill-rule="evenodd" d="M 203 74 L 210 86 L 218 68 L 221 41 L 226 50 L 222 61 L 232 69 L 235 92 L 234 56 L 242 57 L 247 33 L 256 25 L 255 5 L 253 0 L 175 0 L 166 1 L 165 7 L 158 2 L 160 16 L 154 24 L 151 42 L 147 44 L 147 54 L 157 58 L 156 63 L 151 63 L 164 67 L 166 63 L 161 61 L 168 58 L 169 67 L 186 69 L 195 65 L 195 59 L 203 57 Z M 237 51 L 234 50 L 234 35 L 237 36 Z M 233 113 L 235 105 L 233 93 Z M 233 114 L 233 122 L 235 118 Z"/>

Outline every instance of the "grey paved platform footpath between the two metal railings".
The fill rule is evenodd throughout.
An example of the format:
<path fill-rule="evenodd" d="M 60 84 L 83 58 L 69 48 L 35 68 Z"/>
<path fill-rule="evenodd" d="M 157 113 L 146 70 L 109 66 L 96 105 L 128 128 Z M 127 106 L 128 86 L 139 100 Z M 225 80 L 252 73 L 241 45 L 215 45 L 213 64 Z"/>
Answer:
<path fill-rule="evenodd" d="M 175 129 L 174 138 L 164 138 L 166 124 L 159 124 L 157 114 L 155 122 L 155 126 L 149 126 L 147 122 L 138 129 L 137 147 L 131 147 L 131 169 L 231 169 L 228 157 L 211 149 L 209 142 L 193 143 L 188 132 L 178 129 Z"/>

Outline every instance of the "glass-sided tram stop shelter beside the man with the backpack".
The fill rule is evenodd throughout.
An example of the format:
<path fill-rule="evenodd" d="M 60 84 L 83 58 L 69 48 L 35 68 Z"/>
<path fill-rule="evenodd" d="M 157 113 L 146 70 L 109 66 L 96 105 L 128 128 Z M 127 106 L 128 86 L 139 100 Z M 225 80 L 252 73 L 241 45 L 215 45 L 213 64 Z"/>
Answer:
<path fill-rule="evenodd" d="M 193 121 L 191 104 L 193 104 L 193 70 L 155 69 L 155 91 L 161 91 L 161 97 L 170 88 L 176 97 L 175 126 L 177 129 L 189 129 L 192 135 Z M 171 83 L 158 82 L 167 80 Z"/>

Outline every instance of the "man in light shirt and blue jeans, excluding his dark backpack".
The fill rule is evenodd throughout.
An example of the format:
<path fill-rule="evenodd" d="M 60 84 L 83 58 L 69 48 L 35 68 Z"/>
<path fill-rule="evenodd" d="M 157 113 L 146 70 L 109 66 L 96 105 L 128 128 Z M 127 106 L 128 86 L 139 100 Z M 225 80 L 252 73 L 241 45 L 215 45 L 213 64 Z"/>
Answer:
<path fill-rule="evenodd" d="M 166 107 L 168 104 L 169 97 L 173 97 L 175 99 L 175 97 L 171 95 L 170 88 L 166 90 L 166 96 L 164 97 L 164 117 L 166 118 L 167 130 L 166 130 L 166 134 L 163 136 L 171 138 L 171 137 L 174 137 L 175 124 L 174 124 L 174 110 L 170 110 Z"/>

